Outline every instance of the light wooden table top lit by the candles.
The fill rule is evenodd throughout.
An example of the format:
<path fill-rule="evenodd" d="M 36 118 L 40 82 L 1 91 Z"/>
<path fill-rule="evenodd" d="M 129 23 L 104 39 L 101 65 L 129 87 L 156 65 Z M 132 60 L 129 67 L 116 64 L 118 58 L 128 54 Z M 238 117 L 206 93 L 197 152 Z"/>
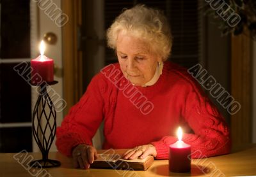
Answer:
<path fill-rule="evenodd" d="M 116 150 L 122 153 L 122 150 Z M 29 169 L 26 162 L 33 159 L 40 159 L 40 153 L 22 153 L 27 161 L 18 162 L 13 158 L 16 153 L 0 153 L 0 176 L 245 176 L 256 175 L 256 146 L 238 148 L 233 153 L 196 159 L 191 162 L 191 173 L 169 173 L 168 160 L 155 160 L 154 164 L 147 171 L 122 171 L 113 169 L 74 169 L 70 158 L 59 152 L 51 152 L 50 159 L 61 161 L 60 167 L 51 169 Z M 19 158 L 20 159 L 20 158 Z M 26 159 L 26 158 L 21 158 Z M 23 164 L 23 166 L 22 166 Z M 31 174 L 30 174 L 31 173 Z M 46 175 L 47 173 L 47 175 Z M 33 174 L 33 175 L 32 175 Z"/>

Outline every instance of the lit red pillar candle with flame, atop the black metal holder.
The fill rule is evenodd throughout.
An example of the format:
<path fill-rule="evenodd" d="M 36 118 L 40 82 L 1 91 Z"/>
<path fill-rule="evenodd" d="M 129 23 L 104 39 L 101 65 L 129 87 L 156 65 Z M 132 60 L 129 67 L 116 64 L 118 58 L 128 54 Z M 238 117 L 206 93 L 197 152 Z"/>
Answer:
<path fill-rule="evenodd" d="M 44 55 L 44 41 L 40 44 L 40 53 L 36 59 L 31 60 L 31 83 L 40 84 L 43 81 L 53 81 L 53 60 Z"/>

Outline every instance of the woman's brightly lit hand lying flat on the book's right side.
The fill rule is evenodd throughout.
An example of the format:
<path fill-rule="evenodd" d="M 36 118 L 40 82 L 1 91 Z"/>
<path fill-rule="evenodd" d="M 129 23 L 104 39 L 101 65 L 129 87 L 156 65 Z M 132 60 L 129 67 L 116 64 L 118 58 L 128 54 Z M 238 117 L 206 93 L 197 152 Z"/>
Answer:
<path fill-rule="evenodd" d="M 148 144 L 148 145 L 142 145 L 142 146 L 136 146 L 131 150 L 127 150 L 123 154 L 124 159 L 144 159 L 148 155 L 153 155 L 156 157 L 156 148 L 155 146 Z"/>

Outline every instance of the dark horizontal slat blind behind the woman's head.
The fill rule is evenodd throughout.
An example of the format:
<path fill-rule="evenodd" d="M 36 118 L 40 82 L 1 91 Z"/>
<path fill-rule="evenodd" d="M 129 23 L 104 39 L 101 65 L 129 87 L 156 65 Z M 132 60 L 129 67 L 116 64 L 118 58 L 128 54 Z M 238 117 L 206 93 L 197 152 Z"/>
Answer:
<path fill-rule="evenodd" d="M 197 0 L 106 0 L 104 5 L 105 29 L 108 29 L 115 20 L 115 17 L 117 17 L 124 8 L 131 8 L 138 3 L 163 10 L 168 17 L 173 34 L 173 48 L 170 60 L 185 67 L 191 67 L 196 64 L 200 57 Z M 113 50 L 107 48 L 106 64 L 116 61 L 117 59 Z"/>

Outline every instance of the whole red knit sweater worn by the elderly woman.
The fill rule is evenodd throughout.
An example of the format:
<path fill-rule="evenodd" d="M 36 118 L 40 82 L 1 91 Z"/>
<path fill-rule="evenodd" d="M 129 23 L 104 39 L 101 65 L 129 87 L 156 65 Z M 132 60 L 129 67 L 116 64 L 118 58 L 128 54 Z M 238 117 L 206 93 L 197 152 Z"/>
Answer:
<path fill-rule="evenodd" d="M 92 145 L 102 121 L 104 149 L 152 143 L 156 159 L 168 159 L 168 146 L 177 141 L 180 126 L 192 158 L 230 152 L 225 120 L 186 69 L 171 62 L 164 63 L 163 74 L 149 87 L 132 85 L 119 64 L 102 69 L 58 127 L 58 150 L 70 156 L 74 146 Z"/>

